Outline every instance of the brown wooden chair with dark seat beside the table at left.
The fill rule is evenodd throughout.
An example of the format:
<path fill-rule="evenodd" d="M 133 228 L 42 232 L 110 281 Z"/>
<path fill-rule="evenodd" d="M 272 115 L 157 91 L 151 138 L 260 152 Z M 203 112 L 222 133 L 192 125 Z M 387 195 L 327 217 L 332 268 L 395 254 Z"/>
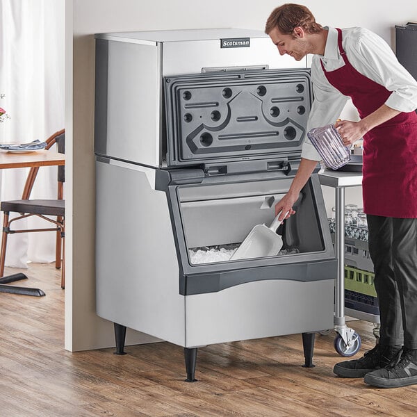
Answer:
<path fill-rule="evenodd" d="M 60 154 L 65 154 L 65 130 L 58 131 L 47 140 L 47 147 L 51 148 L 56 143 Z M 32 231 L 56 231 L 56 259 L 55 267 L 61 268 L 61 288 L 65 288 L 65 200 L 63 199 L 63 185 L 65 182 L 65 167 L 58 166 L 58 195 L 56 199 L 30 199 L 33 184 L 39 167 L 32 167 L 28 173 L 24 186 L 22 199 L 1 202 L 0 210 L 4 212 L 3 234 L 1 238 L 0 252 L 0 277 L 4 275 L 4 261 L 6 259 L 6 245 L 9 234 L 25 233 Z M 19 217 L 9 219 L 10 212 L 20 213 Z M 16 220 L 36 215 L 47 222 L 53 223 L 54 227 L 44 229 L 10 229 L 10 224 Z M 49 218 L 47 216 L 53 216 Z M 62 258 L 62 261 L 61 261 Z"/>

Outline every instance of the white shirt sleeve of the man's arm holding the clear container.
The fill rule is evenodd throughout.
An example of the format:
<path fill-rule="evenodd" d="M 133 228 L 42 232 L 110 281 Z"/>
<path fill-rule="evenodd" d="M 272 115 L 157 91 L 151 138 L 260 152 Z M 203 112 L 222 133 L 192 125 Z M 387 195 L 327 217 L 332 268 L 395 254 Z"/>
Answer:
<path fill-rule="evenodd" d="M 361 28 L 358 37 L 347 37 L 345 51 L 357 71 L 392 91 L 386 106 L 405 113 L 417 108 L 417 81 L 382 38 Z"/>

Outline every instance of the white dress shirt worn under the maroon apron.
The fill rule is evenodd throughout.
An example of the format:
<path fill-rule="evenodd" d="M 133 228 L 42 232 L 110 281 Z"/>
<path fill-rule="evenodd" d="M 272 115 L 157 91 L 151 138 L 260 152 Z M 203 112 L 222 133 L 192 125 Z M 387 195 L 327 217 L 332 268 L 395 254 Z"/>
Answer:
<path fill-rule="evenodd" d="M 327 124 L 334 124 L 349 97 L 336 90 L 325 76 L 345 65 L 338 51 L 338 32 L 327 28 L 329 34 L 324 55 L 314 55 L 311 63 L 311 82 L 314 100 L 311 106 L 307 131 Z M 342 29 L 342 45 L 352 67 L 392 91 L 385 104 L 398 111 L 409 113 L 417 108 L 417 81 L 398 62 L 397 57 L 382 38 L 365 28 Z M 306 136 L 302 158 L 320 161 L 320 155 Z"/>

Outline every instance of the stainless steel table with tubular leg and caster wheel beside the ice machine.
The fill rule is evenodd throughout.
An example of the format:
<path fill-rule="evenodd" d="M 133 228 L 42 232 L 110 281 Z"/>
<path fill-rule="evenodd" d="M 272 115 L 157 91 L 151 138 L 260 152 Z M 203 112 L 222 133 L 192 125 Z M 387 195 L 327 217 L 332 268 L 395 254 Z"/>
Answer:
<path fill-rule="evenodd" d="M 322 170 L 318 177 L 323 186 L 336 190 L 336 231 L 334 247 L 337 259 L 335 280 L 334 329 L 338 333 L 334 347 L 343 356 L 352 356 L 361 347 L 361 338 L 347 327 L 345 318 L 345 188 L 362 185 L 362 174 Z"/>

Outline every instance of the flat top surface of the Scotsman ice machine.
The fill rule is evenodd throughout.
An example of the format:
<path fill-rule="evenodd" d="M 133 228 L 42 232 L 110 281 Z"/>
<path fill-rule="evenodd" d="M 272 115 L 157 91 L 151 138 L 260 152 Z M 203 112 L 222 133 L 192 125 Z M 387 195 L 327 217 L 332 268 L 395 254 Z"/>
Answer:
<path fill-rule="evenodd" d="M 97 33 L 97 39 L 120 40 L 121 42 L 184 42 L 217 40 L 221 38 L 268 38 L 263 31 L 241 28 L 183 29 L 174 31 L 138 31 Z"/>

